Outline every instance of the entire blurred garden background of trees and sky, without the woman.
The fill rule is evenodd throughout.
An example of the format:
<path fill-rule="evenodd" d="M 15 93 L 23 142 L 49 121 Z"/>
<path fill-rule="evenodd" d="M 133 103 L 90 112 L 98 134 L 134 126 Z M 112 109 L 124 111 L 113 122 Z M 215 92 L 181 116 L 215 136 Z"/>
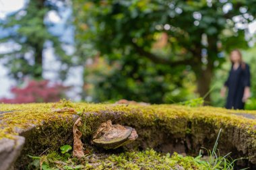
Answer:
<path fill-rule="evenodd" d="M 228 54 L 251 67 L 256 1 L 0 0 L 0 102 L 180 103 L 223 107 Z"/>

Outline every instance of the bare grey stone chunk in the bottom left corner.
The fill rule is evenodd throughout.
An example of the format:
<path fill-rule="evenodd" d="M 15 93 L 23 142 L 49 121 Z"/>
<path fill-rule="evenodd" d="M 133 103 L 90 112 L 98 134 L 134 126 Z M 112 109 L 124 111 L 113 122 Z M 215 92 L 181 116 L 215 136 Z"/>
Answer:
<path fill-rule="evenodd" d="M 25 142 L 23 136 L 13 136 L 15 139 L 2 138 L 0 140 L 0 169 L 12 169 L 13 163 L 19 157 Z"/>

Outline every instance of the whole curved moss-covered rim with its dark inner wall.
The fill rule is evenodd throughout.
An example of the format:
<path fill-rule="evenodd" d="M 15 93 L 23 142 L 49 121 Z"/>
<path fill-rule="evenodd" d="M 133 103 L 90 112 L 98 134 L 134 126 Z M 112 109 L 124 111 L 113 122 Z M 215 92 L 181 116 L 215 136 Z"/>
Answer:
<path fill-rule="evenodd" d="M 76 113 L 53 112 L 55 108 L 73 108 Z M 13 112 L 9 112 L 13 111 Z M 90 144 L 98 126 L 106 120 L 135 128 L 139 137 L 125 149 L 187 153 L 197 155 L 199 149 L 212 148 L 220 128 L 220 154 L 249 157 L 240 163 L 255 168 L 255 111 L 226 110 L 209 106 L 190 108 L 182 105 L 113 105 L 89 103 L 0 104 L 0 139 L 25 136 L 26 143 L 16 167 L 26 167 L 26 155 L 54 151 L 72 144 L 73 122 L 78 116 L 84 122 L 83 141 Z M 28 130 L 29 129 L 29 130 Z"/>

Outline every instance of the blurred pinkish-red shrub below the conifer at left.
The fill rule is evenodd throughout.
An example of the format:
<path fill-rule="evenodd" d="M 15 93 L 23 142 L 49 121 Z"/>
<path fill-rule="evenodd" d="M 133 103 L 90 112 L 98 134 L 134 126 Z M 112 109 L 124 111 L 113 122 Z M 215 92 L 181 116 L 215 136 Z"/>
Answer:
<path fill-rule="evenodd" d="M 24 88 L 12 87 L 11 93 L 15 95 L 13 99 L 3 98 L 0 103 L 35 103 L 35 102 L 55 102 L 64 96 L 64 92 L 69 89 L 59 83 L 49 85 L 48 80 L 29 81 Z"/>

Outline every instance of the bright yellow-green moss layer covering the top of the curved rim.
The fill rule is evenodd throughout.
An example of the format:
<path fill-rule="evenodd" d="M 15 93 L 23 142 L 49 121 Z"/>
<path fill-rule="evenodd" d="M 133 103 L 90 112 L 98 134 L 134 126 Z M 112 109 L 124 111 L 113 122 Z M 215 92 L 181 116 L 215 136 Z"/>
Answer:
<path fill-rule="evenodd" d="M 236 110 L 225 110 L 222 108 L 199 107 L 190 108 L 180 105 L 110 105 L 110 104 L 88 104 L 71 103 L 70 101 L 61 101 L 59 103 L 32 103 L 32 104 L 0 104 L 0 111 L 13 111 L 5 113 L 0 117 L 1 132 L 0 138 L 11 138 L 11 134 L 18 134 L 17 128 L 26 129 L 32 124 L 41 126 L 49 121 L 63 122 L 65 119 L 71 119 L 73 113 L 53 112 L 55 108 L 74 108 L 77 114 L 82 115 L 84 111 L 85 129 L 91 134 L 96 124 L 104 120 L 114 118 L 125 124 L 129 120 L 136 120 L 143 126 L 162 125 L 172 134 L 185 134 L 187 121 L 203 121 L 214 124 L 216 127 L 236 126 L 247 130 L 248 134 L 255 135 L 256 120 L 236 116 L 234 113 L 241 112 Z M 55 107 L 55 108 L 53 108 Z M 243 111 L 247 114 L 256 116 L 256 112 Z M 110 114 L 113 113 L 113 114 Z M 104 116 L 108 114 L 109 118 Z M 115 118 L 115 116 L 119 118 Z M 119 119 L 119 120 L 118 120 Z M 169 123 L 168 123 L 169 122 Z"/>

